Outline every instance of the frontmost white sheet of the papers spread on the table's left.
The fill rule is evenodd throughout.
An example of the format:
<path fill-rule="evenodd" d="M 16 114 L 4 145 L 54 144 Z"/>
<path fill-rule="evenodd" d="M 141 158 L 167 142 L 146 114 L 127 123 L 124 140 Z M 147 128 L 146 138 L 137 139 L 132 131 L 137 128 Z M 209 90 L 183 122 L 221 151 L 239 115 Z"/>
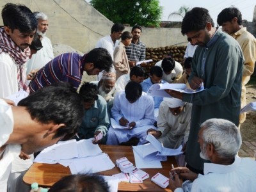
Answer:
<path fill-rule="evenodd" d="M 105 153 L 93 157 L 74 159 L 74 161 L 69 165 L 70 172 L 72 174 L 97 173 L 111 170 L 114 167 L 115 164 L 111 161 L 108 154 Z"/>

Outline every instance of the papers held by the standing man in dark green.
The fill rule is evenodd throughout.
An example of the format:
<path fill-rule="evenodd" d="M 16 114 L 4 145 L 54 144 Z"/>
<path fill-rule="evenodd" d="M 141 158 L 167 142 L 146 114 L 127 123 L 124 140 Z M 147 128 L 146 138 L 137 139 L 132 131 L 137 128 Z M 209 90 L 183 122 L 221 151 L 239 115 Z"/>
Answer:
<path fill-rule="evenodd" d="M 157 83 L 150 86 L 147 94 L 156 97 L 171 97 L 164 90 L 175 90 L 180 93 L 198 93 L 204 91 L 205 89 L 204 84 L 202 84 L 202 86 L 197 90 L 191 90 L 187 88 L 186 84 L 184 83 Z"/>

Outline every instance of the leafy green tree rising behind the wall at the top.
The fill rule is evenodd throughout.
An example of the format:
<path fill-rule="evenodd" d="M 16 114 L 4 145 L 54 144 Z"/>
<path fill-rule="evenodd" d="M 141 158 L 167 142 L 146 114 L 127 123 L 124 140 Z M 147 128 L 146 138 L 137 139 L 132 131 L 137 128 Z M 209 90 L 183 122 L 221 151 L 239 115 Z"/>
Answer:
<path fill-rule="evenodd" d="M 159 0 L 92 0 L 90 4 L 113 22 L 159 26 L 163 7 Z"/>

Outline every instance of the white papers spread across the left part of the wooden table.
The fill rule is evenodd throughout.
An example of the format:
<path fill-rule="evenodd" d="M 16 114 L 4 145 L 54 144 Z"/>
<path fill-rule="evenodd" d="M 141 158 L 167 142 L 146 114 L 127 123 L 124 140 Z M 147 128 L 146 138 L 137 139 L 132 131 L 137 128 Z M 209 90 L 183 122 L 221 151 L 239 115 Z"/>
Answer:
<path fill-rule="evenodd" d="M 35 163 L 60 163 L 69 166 L 72 174 L 97 173 L 115 167 L 108 154 L 102 153 L 99 145 L 89 140 L 69 140 L 45 148 L 36 156 Z M 67 152 L 68 151 L 68 152 Z"/>

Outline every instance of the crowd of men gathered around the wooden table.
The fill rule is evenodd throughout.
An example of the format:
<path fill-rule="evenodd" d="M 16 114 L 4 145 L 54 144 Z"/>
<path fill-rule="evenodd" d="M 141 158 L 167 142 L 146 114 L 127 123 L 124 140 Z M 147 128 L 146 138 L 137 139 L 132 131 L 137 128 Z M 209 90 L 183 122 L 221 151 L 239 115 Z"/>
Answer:
<path fill-rule="evenodd" d="M 114 24 L 111 34 L 83 56 L 67 52 L 54 58 L 51 40 L 45 36 L 47 15 L 8 3 L 2 17 L 1 191 L 28 191 L 22 177 L 33 163 L 33 153 L 60 140 L 95 138 L 93 143 L 120 145 L 135 138 L 135 145 L 143 145 L 147 134 L 164 147 L 183 145 L 186 167 L 171 170 L 173 191 L 185 188 L 179 178 L 190 181 L 191 191 L 256 189 L 256 162 L 237 156 L 239 125 L 246 117 L 239 111 L 246 104 L 256 39 L 243 27 L 237 8 L 220 12 L 222 30 L 214 27 L 205 8 L 186 13 L 181 33 L 189 43 L 183 67 L 167 54 L 150 68 L 147 78 L 136 65 L 145 60 L 146 47 L 138 24 L 131 32 Z M 97 75 L 98 81 L 81 82 L 83 72 Z M 165 90 L 170 97 L 164 98 L 147 95 L 156 83 L 184 83 L 205 90 L 195 94 Z M 22 90 L 29 96 L 17 106 L 6 99 Z M 72 182 L 74 177 L 67 179 Z M 93 175 L 92 180 L 104 183 Z M 52 191 L 64 184 L 65 179 L 60 180 Z"/>

